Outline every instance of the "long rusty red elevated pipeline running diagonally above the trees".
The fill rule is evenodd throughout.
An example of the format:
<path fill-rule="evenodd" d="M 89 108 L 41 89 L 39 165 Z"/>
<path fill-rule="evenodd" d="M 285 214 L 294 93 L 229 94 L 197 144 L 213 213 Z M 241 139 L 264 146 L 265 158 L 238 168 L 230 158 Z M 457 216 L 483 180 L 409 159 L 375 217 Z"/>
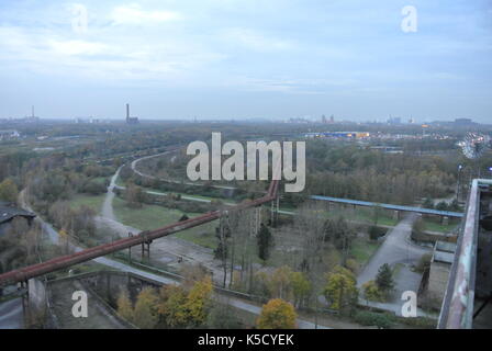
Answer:
<path fill-rule="evenodd" d="M 272 180 L 269 188 L 268 193 L 257 200 L 254 200 L 251 202 L 243 203 L 239 205 L 236 205 L 228 211 L 238 211 L 249 207 L 256 207 L 260 206 L 261 204 L 265 204 L 267 202 L 273 201 L 277 197 L 279 188 L 279 181 Z M 116 252 L 123 249 L 127 249 L 137 245 L 142 244 L 149 244 L 152 240 L 165 237 L 167 235 L 175 234 L 177 231 L 181 231 L 185 229 L 189 229 L 199 225 L 202 225 L 204 223 L 209 223 L 212 220 L 215 220 L 222 216 L 223 213 L 226 213 L 226 211 L 214 211 L 209 212 L 206 214 L 203 214 L 201 216 L 190 218 L 187 220 L 178 222 L 168 226 L 165 226 L 163 228 L 158 228 L 155 230 L 146 230 L 142 231 L 136 236 L 124 238 L 116 240 L 111 244 L 104 244 L 100 245 L 93 248 L 89 248 L 76 253 L 62 256 L 52 260 L 48 260 L 46 262 L 24 267 L 18 270 L 13 270 L 3 274 L 0 274 L 0 287 L 12 285 L 20 282 L 26 282 L 27 280 L 44 275 L 60 269 L 65 269 L 68 267 L 71 267 L 74 264 L 78 264 L 81 262 L 90 261 L 94 258 L 107 256 L 112 252 Z"/>

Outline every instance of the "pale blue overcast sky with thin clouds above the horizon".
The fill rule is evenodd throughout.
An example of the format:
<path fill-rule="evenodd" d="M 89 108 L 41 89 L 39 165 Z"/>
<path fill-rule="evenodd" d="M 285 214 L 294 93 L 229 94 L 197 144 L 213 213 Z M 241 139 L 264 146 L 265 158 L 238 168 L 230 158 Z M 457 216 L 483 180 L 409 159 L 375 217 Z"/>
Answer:
<path fill-rule="evenodd" d="M 491 3 L 0 0 L 0 118 L 490 123 Z"/>

